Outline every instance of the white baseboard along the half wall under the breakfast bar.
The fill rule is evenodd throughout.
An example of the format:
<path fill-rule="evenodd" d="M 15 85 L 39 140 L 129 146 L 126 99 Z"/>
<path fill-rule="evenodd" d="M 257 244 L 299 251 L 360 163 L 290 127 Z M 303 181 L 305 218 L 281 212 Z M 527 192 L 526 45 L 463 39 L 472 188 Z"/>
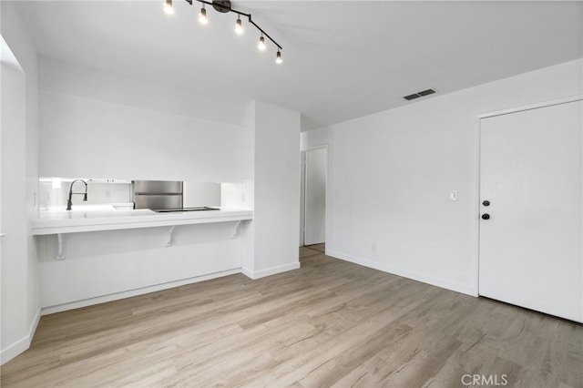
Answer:
<path fill-rule="evenodd" d="M 84 299 L 82 301 L 71 301 L 68 303 L 57 304 L 56 306 L 46 306 L 41 309 L 42 315 L 53 314 L 55 312 L 78 309 L 80 307 L 87 307 L 93 304 L 105 303 L 106 301 L 118 301 L 119 299 L 130 298 L 132 296 L 143 295 L 149 292 L 168 290 L 174 287 L 184 286 L 186 284 L 196 283 L 199 281 L 209 281 L 210 279 L 221 278 L 223 276 L 240 273 L 240 268 L 228 271 L 220 271 L 210 273 L 208 275 L 196 276 L 194 278 L 182 279 L 180 281 L 169 281 L 168 283 L 157 284 L 155 286 L 143 287 L 136 290 L 121 291 L 104 296 L 97 296 L 95 298 Z"/>

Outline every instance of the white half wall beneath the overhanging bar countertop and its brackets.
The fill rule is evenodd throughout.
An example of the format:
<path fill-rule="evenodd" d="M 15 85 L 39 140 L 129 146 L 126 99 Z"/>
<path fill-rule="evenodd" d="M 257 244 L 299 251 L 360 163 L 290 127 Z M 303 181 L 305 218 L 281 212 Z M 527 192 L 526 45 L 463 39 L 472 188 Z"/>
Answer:
<path fill-rule="evenodd" d="M 240 271 L 237 222 L 38 236 L 43 313 L 158 291 Z"/>

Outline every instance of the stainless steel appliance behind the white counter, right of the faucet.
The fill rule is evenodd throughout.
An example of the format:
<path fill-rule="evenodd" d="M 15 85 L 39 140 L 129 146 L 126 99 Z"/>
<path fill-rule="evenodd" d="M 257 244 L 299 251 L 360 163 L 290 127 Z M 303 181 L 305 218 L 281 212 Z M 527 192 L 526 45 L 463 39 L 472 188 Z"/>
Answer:
<path fill-rule="evenodd" d="M 181 180 L 133 180 L 136 209 L 182 209 Z"/>

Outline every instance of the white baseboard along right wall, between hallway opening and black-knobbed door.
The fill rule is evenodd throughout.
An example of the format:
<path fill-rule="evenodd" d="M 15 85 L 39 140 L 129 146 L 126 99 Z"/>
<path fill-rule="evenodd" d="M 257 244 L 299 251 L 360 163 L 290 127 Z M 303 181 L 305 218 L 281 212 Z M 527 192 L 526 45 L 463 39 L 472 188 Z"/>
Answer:
<path fill-rule="evenodd" d="M 466 286 L 464 284 L 447 281 L 442 278 L 436 278 L 434 276 L 416 271 L 404 270 L 403 268 L 394 267 L 393 265 L 378 261 L 357 258 L 336 250 L 326 250 L 326 255 L 336 259 L 346 260 L 355 264 L 363 265 L 364 267 L 373 268 L 374 270 L 393 273 L 394 275 L 403 276 L 404 278 L 413 279 L 414 281 L 423 281 L 424 283 L 441 287 L 446 290 L 465 293 L 466 295 L 471 296 L 477 296 L 476 289 L 473 286 Z"/>

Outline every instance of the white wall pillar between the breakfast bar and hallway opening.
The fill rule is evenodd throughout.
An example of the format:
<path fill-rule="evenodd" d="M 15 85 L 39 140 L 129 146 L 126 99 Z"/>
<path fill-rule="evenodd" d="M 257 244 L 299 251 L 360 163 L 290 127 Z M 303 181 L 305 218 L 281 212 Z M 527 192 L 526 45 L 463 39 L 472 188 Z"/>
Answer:
<path fill-rule="evenodd" d="M 248 107 L 244 179 L 252 179 L 253 221 L 243 271 L 253 279 L 300 267 L 300 113 L 262 102 Z M 248 199 L 249 200 L 249 199 Z"/>

